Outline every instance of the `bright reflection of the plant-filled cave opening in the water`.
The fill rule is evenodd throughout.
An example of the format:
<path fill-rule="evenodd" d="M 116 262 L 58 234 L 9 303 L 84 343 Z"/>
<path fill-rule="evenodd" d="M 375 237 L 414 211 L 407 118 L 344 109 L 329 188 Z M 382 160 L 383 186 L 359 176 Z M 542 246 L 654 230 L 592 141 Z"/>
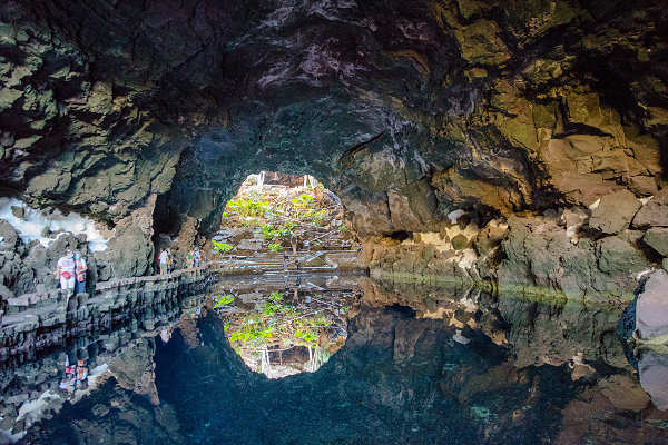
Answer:
<path fill-rule="evenodd" d="M 364 276 L 294 276 L 289 281 L 226 278 L 214 310 L 244 363 L 269 378 L 315 372 L 345 343 L 348 312 Z"/>

